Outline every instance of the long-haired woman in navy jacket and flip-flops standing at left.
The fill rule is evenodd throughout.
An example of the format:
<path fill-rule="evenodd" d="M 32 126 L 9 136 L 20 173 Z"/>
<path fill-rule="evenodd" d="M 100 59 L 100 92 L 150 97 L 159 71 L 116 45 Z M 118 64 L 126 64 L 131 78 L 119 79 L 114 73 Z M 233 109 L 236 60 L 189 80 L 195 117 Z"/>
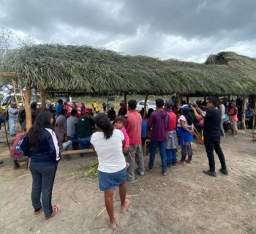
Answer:
<path fill-rule="evenodd" d="M 39 113 L 20 146 L 23 154 L 31 158 L 29 169 L 33 180 L 31 200 L 34 216 L 44 211 L 45 219 L 52 218 L 60 210 L 60 205 L 51 204 L 54 178 L 61 159 L 52 124 L 53 114 L 50 111 Z"/>

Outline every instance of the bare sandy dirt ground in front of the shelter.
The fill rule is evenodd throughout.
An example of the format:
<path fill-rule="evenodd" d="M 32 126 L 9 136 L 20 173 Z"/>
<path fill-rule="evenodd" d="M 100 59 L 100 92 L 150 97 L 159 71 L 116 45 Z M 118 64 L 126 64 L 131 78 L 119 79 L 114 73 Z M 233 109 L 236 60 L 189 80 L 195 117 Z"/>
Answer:
<path fill-rule="evenodd" d="M 4 135 L 2 128 L 1 141 L 6 140 Z M 153 173 L 127 182 L 131 204 L 125 214 L 119 212 L 116 190 L 118 227 L 111 230 L 97 179 L 79 170 L 95 159 L 93 154 L 85 158 L 74 155 L 59 163 L 53 204 L 59 203 L 61 211 L 46 221 L 43 214 L 33 216 L 26 162 L 14 170 L 7 143 L 1 143 L 0 233 L 256 233 L 256 142 L 252 142 L 251 131 L 239 130 L 238 137 L 222 139 L 229 176 L 219 171 L 216 178 L 205 175 L 202 170 L 208 168 L 208 160 L 204 147 L 195 141 L 193 148 L 192 164 L 171 167 L 163 177 L 157 156 Z M 218 169 L 217 157 L 216 166 Z"/>

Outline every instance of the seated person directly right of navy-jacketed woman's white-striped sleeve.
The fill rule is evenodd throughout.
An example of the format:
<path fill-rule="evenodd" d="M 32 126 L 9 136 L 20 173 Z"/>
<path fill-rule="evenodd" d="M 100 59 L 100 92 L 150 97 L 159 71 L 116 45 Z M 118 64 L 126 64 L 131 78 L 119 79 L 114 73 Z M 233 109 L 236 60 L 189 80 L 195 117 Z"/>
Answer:
<path fill-rule="evenodd" d="M 60 152 L 71 151 L 71 149 L 72 149 L 72 141 L 68 140 L 67 133 L 63 129 L 62 123 L 61 122 L 56 122 L 54 129 L 55 129 L 57 138 L 59 140 Z M 64 159 L 69 159 L 69 158 L 70 158 L 70 155 L 65 155 L 64 156 Z"/>

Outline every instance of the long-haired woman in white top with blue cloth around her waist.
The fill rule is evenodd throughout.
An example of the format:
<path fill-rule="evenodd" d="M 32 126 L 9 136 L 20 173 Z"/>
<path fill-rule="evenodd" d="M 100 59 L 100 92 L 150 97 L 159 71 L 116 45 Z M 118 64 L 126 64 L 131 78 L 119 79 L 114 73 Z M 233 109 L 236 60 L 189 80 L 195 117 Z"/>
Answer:
<path fill-rule="evenodd" d="M 190 113 L 190 108 L 187 105 L 182 106 L 182 115 L 178 118 L 178 135 L 180 139 L 181 146 L 181 160 L 178 164 L 185 164 L 185 159 L 188 154 L 187 163 L 192 161 L 192 146 L 194 133 L 194 124 L 192 119 L 192 114 Z"/>

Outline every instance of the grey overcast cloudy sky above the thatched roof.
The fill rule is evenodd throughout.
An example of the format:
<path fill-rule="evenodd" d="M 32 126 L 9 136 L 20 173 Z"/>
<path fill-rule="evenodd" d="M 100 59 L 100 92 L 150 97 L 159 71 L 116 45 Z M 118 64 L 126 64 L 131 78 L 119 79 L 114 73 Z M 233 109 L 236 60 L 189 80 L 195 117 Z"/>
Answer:
<path fill-rule="evenodd" d="M 0 0 L 0 28 L 37 42 L 203 62 L 256 57 L 256 0 Z"/>

